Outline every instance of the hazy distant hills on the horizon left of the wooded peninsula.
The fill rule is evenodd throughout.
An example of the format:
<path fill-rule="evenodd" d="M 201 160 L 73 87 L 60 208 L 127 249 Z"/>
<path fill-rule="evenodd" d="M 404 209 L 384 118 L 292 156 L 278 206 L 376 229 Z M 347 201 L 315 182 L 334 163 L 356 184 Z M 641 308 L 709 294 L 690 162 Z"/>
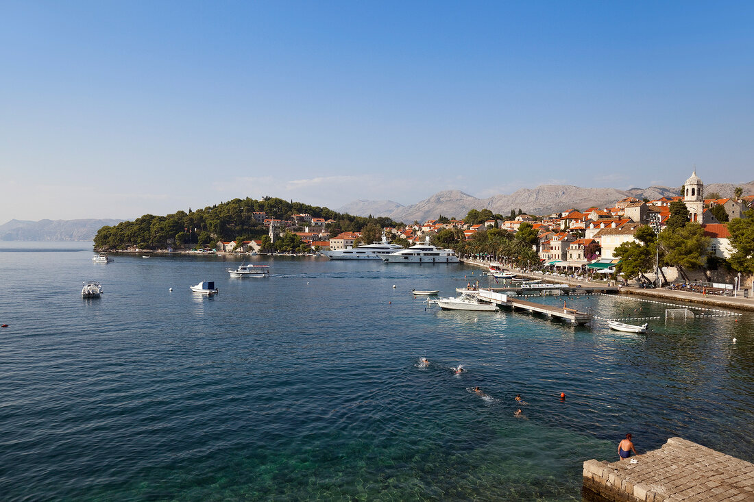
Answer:
<path fill-rule="evenodd" d="M 105 225 L 118 225 L 122 219 L 41 219 L 29 222 L 11 219 L 0 225 L 0 240 L 94 240 Z"/>

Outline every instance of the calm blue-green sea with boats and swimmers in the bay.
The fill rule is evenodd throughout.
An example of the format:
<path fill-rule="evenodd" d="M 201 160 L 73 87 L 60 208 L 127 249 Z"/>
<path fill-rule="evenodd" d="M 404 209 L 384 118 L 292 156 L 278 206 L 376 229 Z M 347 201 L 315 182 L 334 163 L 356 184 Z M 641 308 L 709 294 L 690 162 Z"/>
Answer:
<path fill-rule="evenodd" d="M 630 335 L 410 294 L 453 294 L 479 276 L 463 265 L 255 257 L 271 277 L 239 280 L 214 256 L 90 249 L 0 243 L 3 500 L 581 500 L 582 462 L 614 461 L 627 432 L 754 461 L 751 314 Z"/>

